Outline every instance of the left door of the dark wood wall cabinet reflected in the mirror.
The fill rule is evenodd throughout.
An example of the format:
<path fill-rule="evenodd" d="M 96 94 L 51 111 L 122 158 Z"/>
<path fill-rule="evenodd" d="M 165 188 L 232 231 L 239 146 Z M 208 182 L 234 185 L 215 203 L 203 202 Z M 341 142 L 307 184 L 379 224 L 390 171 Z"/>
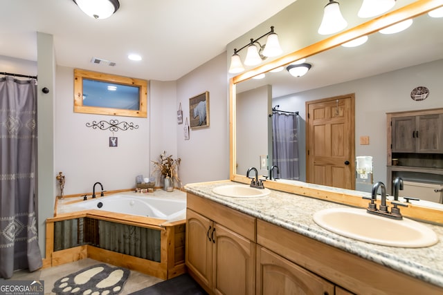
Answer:
<path fill-rule="evenodd" d="M 415 116 L 392 118 L 392 152 L 415 153 Z"/>

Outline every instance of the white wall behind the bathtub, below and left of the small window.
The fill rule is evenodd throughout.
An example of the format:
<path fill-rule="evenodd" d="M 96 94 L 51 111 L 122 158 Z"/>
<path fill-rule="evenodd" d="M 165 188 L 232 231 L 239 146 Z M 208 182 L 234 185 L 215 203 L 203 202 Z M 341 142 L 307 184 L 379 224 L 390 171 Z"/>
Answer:
<path fill-rule="evenodd" d="M 150 172 L 149 119 L 74 113 L 73 91 L 73 68 L 58 66 L 55 169 L 66 177 L 64 193 L 90 193 L 95 182 L 107 191 L 135 187 L 136 175 Z M 112 133 L 86 126 L 111 119 L 132 122 L 138 129 Z M 118 137 L 117 147 L 109 147 L 111 136 Z"/>

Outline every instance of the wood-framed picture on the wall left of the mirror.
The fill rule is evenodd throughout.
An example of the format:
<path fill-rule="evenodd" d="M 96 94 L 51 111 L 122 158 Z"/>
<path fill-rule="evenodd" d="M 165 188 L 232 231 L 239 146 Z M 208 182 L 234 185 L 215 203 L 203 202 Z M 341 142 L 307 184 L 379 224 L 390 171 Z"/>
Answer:
<path fill-rule="evenodd" d="M 189 99 L 190 128 L 209 126 L 209 91 Z"/>

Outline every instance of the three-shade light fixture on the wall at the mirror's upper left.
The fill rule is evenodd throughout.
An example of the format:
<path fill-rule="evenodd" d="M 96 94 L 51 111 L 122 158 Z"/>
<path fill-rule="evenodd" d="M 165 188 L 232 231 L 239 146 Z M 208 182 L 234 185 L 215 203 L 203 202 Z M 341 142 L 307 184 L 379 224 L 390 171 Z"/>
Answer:
<path fill-rule="evenodd" d="M 266 39 L 266 44 L 262 45 L 258 42 L 258 40 L 263 37 L 268 37 Z M 257 39 L 252 39 L 251 42 L 238 49 L 234 48 L 234 54 L 230 57 L 230 66 L 229 73 L 235 74 L 244 71 L 244 66 L 242 64 L 242 59 L 238 53 L 244 48 L 248 48 L 246 53 L 246 59 L 244 60 L 244 64 L 246 66 L 255 66 L 260 64 L 266 57 L 275 57 L 282 53 L 282 48 L 280 47 L 280 43 L 278 41 L 278 35 L 274 32 L 274 27 L 271 26 L 271 31 L 266 32 L 266 34 L 258 37 Z"/>

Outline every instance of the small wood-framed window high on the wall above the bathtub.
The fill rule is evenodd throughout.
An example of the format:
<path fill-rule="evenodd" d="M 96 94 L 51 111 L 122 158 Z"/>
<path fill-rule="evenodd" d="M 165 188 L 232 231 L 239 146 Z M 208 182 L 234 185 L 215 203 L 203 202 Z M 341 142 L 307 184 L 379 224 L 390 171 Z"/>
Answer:
<path fill-rule="evenodd" d="M 147 80 L 75 68 L 74 112 L 147 117 Z"/>

